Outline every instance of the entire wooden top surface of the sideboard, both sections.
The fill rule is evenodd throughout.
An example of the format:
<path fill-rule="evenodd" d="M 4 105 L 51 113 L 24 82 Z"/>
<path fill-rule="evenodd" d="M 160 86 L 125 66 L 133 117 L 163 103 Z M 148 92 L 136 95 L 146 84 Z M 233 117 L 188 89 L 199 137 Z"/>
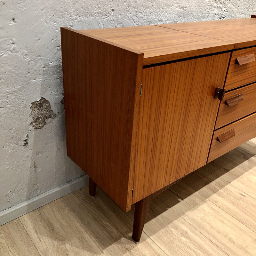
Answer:
<path fill-rule="evenodd" d="M 144 53 L 143 65 L 256 45 L 255 18 L 79 31 Z"/>

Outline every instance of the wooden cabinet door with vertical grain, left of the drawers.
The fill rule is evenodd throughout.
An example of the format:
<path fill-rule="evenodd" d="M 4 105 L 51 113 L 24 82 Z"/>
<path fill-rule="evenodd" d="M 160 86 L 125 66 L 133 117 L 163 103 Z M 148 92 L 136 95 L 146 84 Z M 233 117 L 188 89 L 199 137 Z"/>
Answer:
<path fill-rule="evenodd" d="M 229 56 L 143 69 L 132 204 L 206 164 Z"/>

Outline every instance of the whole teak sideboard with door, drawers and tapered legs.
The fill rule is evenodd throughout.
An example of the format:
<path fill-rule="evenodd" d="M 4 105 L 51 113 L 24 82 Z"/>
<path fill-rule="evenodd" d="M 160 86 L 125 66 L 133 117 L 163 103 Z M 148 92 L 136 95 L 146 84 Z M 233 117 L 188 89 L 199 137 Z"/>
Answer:
<path fill-rule="evenodd" d="M 139 242 L 153 198 L 256 137 L 256 19 L 61 28 L 68 156 Z"/>

